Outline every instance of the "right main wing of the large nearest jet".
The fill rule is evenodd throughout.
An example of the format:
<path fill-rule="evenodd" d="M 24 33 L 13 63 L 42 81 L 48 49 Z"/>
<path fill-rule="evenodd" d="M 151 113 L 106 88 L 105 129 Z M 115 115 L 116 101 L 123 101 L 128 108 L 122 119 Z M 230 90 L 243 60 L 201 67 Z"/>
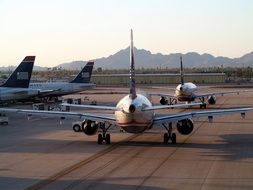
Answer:
<path fill-rule="evenodd" d="M 161 124 L 166 122 L 179 121 L 182 119 L 199 118 L 199 117 L 207 117 L 208 119 L 210 119 L 211 122 L 213 116 L 222 116 L 239 113 L 241 114 L 242 117 L 244 117 L 245 113 L 250 111 L 253 111 L 253 108 L 233 108 L 233 109 L 221 109 L 211 111 L 176 113 L 164 116 L 155 116 L 154 124 Z"/>

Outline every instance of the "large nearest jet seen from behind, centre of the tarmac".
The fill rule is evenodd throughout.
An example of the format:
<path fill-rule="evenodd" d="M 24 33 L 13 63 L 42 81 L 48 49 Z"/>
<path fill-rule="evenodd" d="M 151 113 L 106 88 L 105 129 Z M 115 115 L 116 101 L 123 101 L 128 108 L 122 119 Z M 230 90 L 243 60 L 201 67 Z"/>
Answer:
<path fill-rule="evenodd" d="M 188 135 L 192 132 L 194 124 L 192 118 L 194 117 L 208 117 L 209 121 L 212 121 L 215 115 L 226 115 L 239 113 L 242 117 L 246 112 L 253 111 L 253 108 L 234 108 L 224 110 L 212 110 L 212 111 L 198 111 L 198 112 L 185 112 L 185 113 L 166 113 L 164 115 L 158 115 L 154 113 L 154 110 L 167 109 L 170 107 L 181 107 L 187 104 L 176 105 L 159 105 L 153 106 L 150 100 L 136 92 L 135 88 L 135 62 L 133 52 L 133 34 L 131 30 L 131 45 L 130 45 L 130 78 L 129 78 L 129 94 L 123 97 L 116 106 L 93 106 L 93 105 L 71 105 L 82 108 L 97 109 L 97 112 L 61 112 L 61 111 L 43 111 L 43 110 L 24 110 L 24 109 L 0 109 L 1 112 L 16 112 L 25 113 L 29 115 L 47 115 L 47 116 L 59 116 L 62 118 L 82 118 L 82 130 L 86 135 L 95 135 L 98 129 L 101 132 L 98 133 L 98 144 L 102 144 L 104 141 L 106 144 L 110 144 L 109 128 L 112 125 L 118 126 L 128 133 L 143 133 L 151 129 L 154 126 L 162 126 L 167 131 L 164 133 L 164 143 L 171 141 L 176 143 L 176 133 L 172 132 L 173 127 L 176 127 L 178 132 L 182 135 Z M 114 113 L 106 114 L 101 113 L 101 110 L 111 110 Z M 172 122 L 176 122 L 176 126 L 172 125 Z"/>

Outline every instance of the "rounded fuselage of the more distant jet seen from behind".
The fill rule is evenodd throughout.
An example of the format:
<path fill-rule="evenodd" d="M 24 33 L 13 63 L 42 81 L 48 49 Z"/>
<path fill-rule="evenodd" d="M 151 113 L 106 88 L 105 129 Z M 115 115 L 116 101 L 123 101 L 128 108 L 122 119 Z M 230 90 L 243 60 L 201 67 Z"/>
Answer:
<path fill-rule="evenodd" d="M 187 101 L 191 102 L 194 101 L 196 96 L 195 92 L 197 91 L 197 86 L 191 82 L 179 84 L 175 90 L 175 96 L 177 97 L 178 101 Z"/>

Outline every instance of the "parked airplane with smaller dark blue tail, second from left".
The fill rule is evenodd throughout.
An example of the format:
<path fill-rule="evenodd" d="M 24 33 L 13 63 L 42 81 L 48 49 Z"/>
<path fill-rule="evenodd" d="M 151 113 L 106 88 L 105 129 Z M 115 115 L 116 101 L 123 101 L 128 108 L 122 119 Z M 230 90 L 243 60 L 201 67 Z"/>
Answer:
<path fill-rule="evenodd" d="M 38 90 L 39 98 L 52 98 L 91 89 L 90 83 L 94 62 L 88 62 L 70 82 L 30 83 L 29 89 Z"/>

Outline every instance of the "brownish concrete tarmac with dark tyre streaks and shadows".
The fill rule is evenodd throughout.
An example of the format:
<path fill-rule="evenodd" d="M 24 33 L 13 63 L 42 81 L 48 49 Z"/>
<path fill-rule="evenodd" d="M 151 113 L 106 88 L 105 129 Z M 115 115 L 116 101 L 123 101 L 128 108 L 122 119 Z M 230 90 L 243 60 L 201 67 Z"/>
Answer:
<path fill-rule="evenodd" d="M 89 96 L 111 104 L 122 94 Z M 217 97 L 208 109 L 244 106 L 253 107 L 251 93 Z M 176 145 L 163 144 L 159 126 L 138 135 L 113 129 L 111 145 L 98 145 L 96 135 L 74 133 L 71 120 L 12 114 L 0 127 L 0 189 L 252 189 L 252 116 L 200 118 Z"/>

